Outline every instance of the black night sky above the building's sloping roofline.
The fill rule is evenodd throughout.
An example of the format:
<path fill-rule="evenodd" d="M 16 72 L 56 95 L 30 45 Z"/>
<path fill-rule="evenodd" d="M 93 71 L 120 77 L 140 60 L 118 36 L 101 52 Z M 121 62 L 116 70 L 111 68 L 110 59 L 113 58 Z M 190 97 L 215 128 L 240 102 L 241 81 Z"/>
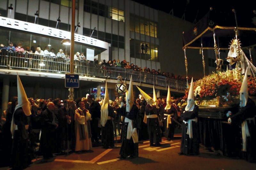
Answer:
<path fill-rule="evenodd" d="M 190 22 L 198 21 L 209 11 L 212 6 L 216 11 L 226 11 L 231 12 L 233 8 L 236 9 L 237 15 L 241 18 L 247 18 L 248 12 L 252 14 L 253 10 L 256 10 L 256 0 L 134 0 L 140 4 L 145 4 L 154 9 L 170 13 L 173 9 L 174 16 L 181 18 L 185 12 L 185 19 Z M 168 4 L 167 4 L 168 3 Z M 256 15 L 255 15 L 256 16 Z M 245 19 L 246 20 L 246 19 Z M 244 25 L 240 21 L 241 25 Z M 251 18 L 246 20 L 246 22 L 251 22 Z M 238 23 L 239 25 L 239 23 Z"/>

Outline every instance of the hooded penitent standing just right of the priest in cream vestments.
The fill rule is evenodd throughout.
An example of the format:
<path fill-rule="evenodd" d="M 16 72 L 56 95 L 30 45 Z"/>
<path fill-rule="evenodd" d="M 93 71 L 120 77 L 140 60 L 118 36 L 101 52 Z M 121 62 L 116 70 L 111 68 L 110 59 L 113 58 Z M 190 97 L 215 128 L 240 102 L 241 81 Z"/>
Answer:
<path fill-rule="evenodd" d="M 101 142 L 104 149 L 114 147 L 114 127 L 112 118 L 114 109 L 109 105 L 108 87 L 106 82 L 105 97 L 101 106 L 100 124 L 101 124 Z"/>

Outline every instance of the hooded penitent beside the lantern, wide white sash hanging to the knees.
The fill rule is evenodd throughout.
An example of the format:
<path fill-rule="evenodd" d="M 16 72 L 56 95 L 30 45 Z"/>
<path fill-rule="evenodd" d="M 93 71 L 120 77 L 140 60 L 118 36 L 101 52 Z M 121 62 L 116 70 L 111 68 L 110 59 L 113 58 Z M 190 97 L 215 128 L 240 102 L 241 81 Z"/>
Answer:
<path fill-rule="evenodd" d="M 130 80 L 128 95 L 126 97 L 126 107 L 122 108 L 123 129 L 122 129 L 122 146 L 119 152 L 119 159 L 135 158 L 139 156 L 139 141 L 137 125 L 139 121 L 138 107 L 134 104 L 132 77 Z M 123 105 L 123 104 L 122 104 Z"/>

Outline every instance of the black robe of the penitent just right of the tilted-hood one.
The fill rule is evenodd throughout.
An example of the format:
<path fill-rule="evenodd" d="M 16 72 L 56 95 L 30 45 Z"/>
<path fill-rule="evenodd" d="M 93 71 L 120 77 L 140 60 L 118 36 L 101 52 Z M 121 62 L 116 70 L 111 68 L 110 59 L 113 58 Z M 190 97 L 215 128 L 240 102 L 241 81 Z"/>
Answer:
<path fill-rule="evenodd" d="M 169 124 L 169 128 L 168 129 L 167 129 L 167 117 L 168 116 L 165 116 L 164 114 L 172 115 L 171 116 L 172 124 Z M 176 122 L 174 122 L 173 120 L 177 121 L 178 120 L 178 115 L 177 115 L 177 110 L 176 110 L 175 106 L 172 104 L 172 107 L 170 109 L 164 110 L 163 119 L 162 119 L 162 121 L 164 122 L 163 123 L 163 126 L 164 126 L 164 136 L 168 140 L 173 139 L 173 137 L 174 137 L 174 130 L 175 130 Z"/>

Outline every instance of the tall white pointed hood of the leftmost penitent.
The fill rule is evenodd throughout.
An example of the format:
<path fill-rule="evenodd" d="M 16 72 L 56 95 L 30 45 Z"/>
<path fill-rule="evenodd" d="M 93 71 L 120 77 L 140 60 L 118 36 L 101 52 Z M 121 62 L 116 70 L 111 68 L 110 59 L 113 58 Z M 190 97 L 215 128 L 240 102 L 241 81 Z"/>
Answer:
<path fill-rule="evenodd" d="M 22 83 L 20 81 L 19 75 L 17 75 L 17 90 L 18 90 L 18 105 L 15 107 L 14 112 L 18 108 L 22 107 L 22 110 L 23 110 L 23 112 L 25 113 L 26 116 L 31 115 L 30 103 L 28 101 L 28 98 L 27 98 L 26 92 L 25 92 L 25 90 L 23 88 L 23 85 L 22 85 Z M 12 124 L 11 124 L 12 137 L 13 137 L 13 133 L 14 133 L 14 130 L 15 130 L 15 124 L 14 124 L 13 115 L 12 115 Z"/>

